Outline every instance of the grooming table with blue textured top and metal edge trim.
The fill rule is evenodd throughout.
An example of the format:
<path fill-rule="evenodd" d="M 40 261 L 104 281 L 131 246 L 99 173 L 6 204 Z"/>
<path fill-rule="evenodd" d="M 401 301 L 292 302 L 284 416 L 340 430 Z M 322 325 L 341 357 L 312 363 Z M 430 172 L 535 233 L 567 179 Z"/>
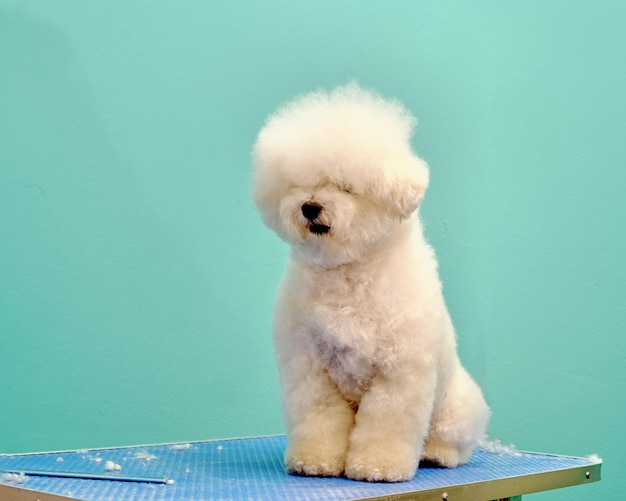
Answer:
<path fill-rule="evenodd" d="M 420 468 L 410 482 L 368 483 L 288 475 L 284 436 L 0 455 L 2 501 L 386 500 L 514 498 L 600 480 L 601 460 L 482 449 L 457 468 Z M 105 465 L 109 467 L 107 471 Z M 119 466 L 119 470 L 116 471 Z M 37 470 L 115 476 L 58 478 Z M 131 478 L 135 481 L 129 481 Z M 147 481 L 153 479 L 153 481 Z M 168 482 L 168 479 L 169 482 Z M 139 481 L 137 481 L 139 480 Z"/>

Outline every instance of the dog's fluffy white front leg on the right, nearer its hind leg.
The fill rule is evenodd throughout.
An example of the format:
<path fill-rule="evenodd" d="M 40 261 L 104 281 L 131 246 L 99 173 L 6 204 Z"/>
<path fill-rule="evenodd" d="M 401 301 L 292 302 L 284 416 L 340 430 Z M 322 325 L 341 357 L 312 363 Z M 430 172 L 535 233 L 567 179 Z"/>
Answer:
<path fill-rule="evenodd" d="M 434 390 L 434 377 L 418 381 L 405 373 L 376 378 L 356 414 L 346 476 L 370 482 L 410 480 L 422 455 Z"/>

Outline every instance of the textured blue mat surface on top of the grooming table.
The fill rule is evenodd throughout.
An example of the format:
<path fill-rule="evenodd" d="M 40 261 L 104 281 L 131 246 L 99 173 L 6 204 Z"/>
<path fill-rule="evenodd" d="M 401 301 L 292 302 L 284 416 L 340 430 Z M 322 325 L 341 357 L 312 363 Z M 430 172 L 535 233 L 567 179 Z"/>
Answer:
<path fill-rule="evenodd" d="M 91 473 L 105 471 L 107 461 L 121 466 L 119 475 L 168 477 L 171 485 L 109 480 L 29 476 L 20 484 L 0 484 L 90 501 L 200 500 L 348 500 L 389 496 L 459 484 L 585 467 L 581 458 L 477 450 L 472 460 L 452 469 L 421 468 L 411 482 L 365 483 L 345 478 L 287 475 L 282 455 L 284 436 L 193 442 L 184 446 L 151 445 L 76 452 L 0 455 L 0 472 L 12 469 Z M 115 474 L 115 473 L 113 473 Z"/>

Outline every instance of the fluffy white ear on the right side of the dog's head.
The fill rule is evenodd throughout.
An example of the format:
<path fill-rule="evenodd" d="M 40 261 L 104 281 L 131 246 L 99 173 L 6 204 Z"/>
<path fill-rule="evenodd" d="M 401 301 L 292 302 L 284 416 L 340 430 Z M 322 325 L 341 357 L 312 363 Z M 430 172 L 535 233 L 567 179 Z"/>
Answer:
<path fill-rule="evenodd" d="M 414 154 L 388 160 L 384 202 L 401 218 L 408 218 L 419 206 L 428 186 L 428 165 Z"/>

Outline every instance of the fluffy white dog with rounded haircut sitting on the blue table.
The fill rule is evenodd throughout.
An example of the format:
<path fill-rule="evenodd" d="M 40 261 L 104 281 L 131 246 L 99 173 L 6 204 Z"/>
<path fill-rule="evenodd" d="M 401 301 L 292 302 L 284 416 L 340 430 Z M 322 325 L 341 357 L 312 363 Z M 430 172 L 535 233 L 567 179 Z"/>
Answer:
<path fill-rule="evenodd" d="M 414 124 L 352 83 L 288 103 L 258 136 L 255 202 L 291 246 L 273 328 L 291 473 L 403 481 L 484 438 L 417 216 Z"/>

